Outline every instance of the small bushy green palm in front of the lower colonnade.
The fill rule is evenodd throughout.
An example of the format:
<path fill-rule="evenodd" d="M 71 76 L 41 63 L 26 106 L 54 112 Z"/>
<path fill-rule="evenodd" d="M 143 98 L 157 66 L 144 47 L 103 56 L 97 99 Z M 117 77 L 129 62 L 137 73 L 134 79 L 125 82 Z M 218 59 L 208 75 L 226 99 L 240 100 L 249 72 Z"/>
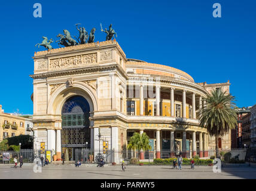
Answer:
<path fill-rule="evenodd" d="M 130 137 L 129 144 L 127 146 L 128 149 L 133 149 L 135 151 L 136 155 L 136 150 L 150 150 L 152 149 L 150 146 L 150 138 L 146 133 L 133 133 L 132 137 Z M 135 156 L 136 158 L 136 156 Z"/>

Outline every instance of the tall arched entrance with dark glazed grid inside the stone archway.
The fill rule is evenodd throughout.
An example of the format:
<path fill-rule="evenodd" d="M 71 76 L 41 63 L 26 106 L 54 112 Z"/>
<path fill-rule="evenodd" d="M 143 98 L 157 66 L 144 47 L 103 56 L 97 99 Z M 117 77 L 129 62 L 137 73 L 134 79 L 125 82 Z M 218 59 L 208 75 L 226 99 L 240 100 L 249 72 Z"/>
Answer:
<path fill-rule="evenodd" d="M 83 150 L 91 147 L 89 112 L 89 103 L 83 96 L 69 97 L 63 104 L 62 152 L 70 161 L 87 158 Z"/>

